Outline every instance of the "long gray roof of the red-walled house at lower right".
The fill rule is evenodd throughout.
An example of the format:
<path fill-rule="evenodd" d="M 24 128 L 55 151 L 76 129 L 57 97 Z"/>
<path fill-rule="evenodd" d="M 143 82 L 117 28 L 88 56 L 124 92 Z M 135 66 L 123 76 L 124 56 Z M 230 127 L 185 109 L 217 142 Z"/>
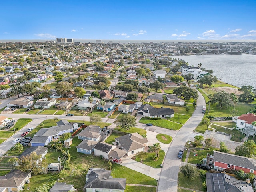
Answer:
<path fill-rule="evenodd" d="M 256 170 L 256 159 L 213 151 L 214 161 Z"/>

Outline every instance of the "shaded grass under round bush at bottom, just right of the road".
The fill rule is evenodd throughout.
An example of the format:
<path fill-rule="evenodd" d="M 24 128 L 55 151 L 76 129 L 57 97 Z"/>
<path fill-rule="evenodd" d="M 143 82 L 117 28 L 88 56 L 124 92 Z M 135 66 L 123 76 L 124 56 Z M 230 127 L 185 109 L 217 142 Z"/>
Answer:
<path fill-rule="evenodd" d="M 201 176 L 197 176 L 196 178 L 194 178 L 193 181 L 189 181 L 188 178 L 185 177 L 181 172 L 179 172 L 178 174 L 178 186 L 188 189 L 204 191 Z"/>

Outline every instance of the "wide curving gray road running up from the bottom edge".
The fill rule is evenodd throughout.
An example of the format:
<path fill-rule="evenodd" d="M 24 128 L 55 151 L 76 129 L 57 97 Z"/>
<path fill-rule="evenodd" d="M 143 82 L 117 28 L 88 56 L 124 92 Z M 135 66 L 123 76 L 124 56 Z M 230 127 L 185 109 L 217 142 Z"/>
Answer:
<path fill-rule="evenodd" d="M 197 107 L 191 118 L 182 126 L 172 140 L 172 143 L 166 153 L 164 167 L 162 168 L 158 192 L 177 192 L 178 189 L 178 172 L 181 160 L 177 158 L 179 150 L 182 150 L 188 140 L 194 137 L 193 130 L 198 126 L 204 114 L 202 108 L 205 106 L 205 101 L 198 92 Z"/>

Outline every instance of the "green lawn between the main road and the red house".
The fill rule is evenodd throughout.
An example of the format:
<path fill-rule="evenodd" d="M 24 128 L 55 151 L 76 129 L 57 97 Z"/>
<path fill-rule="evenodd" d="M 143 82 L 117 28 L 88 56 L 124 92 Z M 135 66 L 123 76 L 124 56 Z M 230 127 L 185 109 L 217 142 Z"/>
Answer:
<path fill-rule="evenodd" d="M 197 164 L 201 163 L 203 158 L 206 158 L 207 153 L 213 154 L 214 150 L 218 150 L 216 148 L 211 148 L 210 150 L 200 150 L 200 149 L 191 149 L 188 156 L 188 163 Z M 194 156 L 197 154 L 197 156 Z"/>

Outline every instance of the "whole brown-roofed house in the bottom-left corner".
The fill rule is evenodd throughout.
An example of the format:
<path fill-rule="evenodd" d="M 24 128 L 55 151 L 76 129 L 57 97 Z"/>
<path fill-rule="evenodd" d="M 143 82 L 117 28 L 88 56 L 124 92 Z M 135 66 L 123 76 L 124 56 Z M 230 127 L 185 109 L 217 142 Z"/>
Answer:
<path fill-rule="evenodd" d="M 3 192 L 19 192 L 30 178 L 30 172 L 22 172 L 18 169 L 13 169 L 8 174 L 0 176 L 0 189 Z"/>

